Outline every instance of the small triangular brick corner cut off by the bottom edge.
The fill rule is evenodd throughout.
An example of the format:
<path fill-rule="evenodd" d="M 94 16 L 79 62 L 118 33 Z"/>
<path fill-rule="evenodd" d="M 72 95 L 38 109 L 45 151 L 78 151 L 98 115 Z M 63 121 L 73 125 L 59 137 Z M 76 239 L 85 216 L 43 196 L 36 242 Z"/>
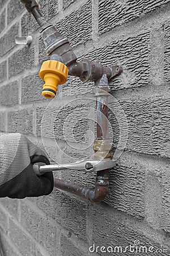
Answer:
<path fill-rule="evenodd" d="M 62 256 L 85 256 L 78 248 L 76 248 L 73 243 L 71 243 L 65 236 L 61 236 L 61 253 Z"/>

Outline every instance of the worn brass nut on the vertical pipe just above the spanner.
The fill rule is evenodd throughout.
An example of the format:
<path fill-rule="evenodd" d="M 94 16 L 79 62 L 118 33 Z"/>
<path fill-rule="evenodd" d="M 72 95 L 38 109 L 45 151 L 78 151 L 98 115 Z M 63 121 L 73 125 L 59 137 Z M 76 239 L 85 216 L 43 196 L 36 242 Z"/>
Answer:
<path fill-rule="evenodd" d="M 111 150 L 112 143 L 109 139 L 94 141 L 95 159 L 112 159 Z"/>

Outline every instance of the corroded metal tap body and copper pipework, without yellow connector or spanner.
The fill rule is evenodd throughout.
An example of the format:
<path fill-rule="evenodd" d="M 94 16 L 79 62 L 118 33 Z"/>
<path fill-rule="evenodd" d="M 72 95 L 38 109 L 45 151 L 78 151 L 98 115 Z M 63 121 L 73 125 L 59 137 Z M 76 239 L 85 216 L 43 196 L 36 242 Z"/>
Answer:
<path fill-rule="evenodd" d="M 46 22 L 39 11 L 36 0 L 20 0 L 29 13 L 32 13 L 41 27 L 41 37 L 46 46 L 46 53 L 51 60 L 60 61 L 69 68 L 69 75 L 78 76 L 82 81 L 95 81 L 97 104 L 97 138 L 94 143 L 95 159 L 111 159 L 111 143 L 108 140 L 108 107 L 107 94 L 100 93 L 100 89 L 109 92 L 108 80 L 120 75 L 120 65 L 103 67 L 100 63 L 90 60 L 76 62 L 76 56 L 70 47 L 69 41 L 56 30 L 54 26 Z M 98 94 L 99 93 L 99 94 Z M 109 170 L 97 172 L 95 188 L 88 188 L 65 180 L 54 180 L 54 187 L 83 197 L 93 203 L 104 200 L 109 185 Z"/>

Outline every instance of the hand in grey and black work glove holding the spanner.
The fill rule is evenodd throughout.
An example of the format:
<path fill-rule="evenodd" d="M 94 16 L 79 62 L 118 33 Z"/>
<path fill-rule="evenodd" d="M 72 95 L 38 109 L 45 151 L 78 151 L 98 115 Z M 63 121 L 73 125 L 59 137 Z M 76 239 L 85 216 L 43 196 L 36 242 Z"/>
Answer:
<path fill-rule="evenodd" d="M 44 152 L 22 134 L 0 135 L 0 197 L 49 195 L 53 191 L 53 174 L 37 176 L 32 165 L 50 164 Z"/>

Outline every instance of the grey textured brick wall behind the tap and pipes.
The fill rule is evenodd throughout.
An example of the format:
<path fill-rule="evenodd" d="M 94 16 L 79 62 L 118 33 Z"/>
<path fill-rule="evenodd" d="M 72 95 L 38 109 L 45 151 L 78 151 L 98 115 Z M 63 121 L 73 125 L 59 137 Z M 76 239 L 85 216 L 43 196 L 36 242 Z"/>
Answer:
<path fill-rule="evenodd" d="M 133 246 L 135 240 L 142 246 L 168 250 L 157 255 L 169 255 L 170 1 L 39 3 L 46 19 L 70 40 L 79 59 L 122 65 L 124 72 L 110 84 L 126 114 L 129 135 L 125 151 L 110 171 L 103 203 L 93 205 L 57 189 L 40 198 L 1 199 L 0 237 L 6 255 L 103 255 L 101 251 L 92 254 L 88 248 L 94 243 Z M 31 46 L 16 46 L 15 35 L 32 35 Z M 38 73 L 48 56 L 35 20 L 19 0 L 0 1 L 0 57 L 0 131 L 23 133 L 43 149 L 41 121 L 50 100 L 41 97 L 43 82 Z M 58 101 L 46 113 L 50 122 L 54 109 L 62 109 L 54 122 L 54 136 L 62 152 L 56 150 L 49 123 L 45 126 L 45 149 L 52 160 L 57 156 L 66 163 L 70 161 L 67 155 L 73 159 L 91 155 L 87 133 L 94 131 L 94 122 L 84 117 L 90 116 L 95 102 L 78 97 L 91 97 L 92 86 L 70 77 L 59 86 Z M 114 102 L 110 106 L 114 109 Z M 64 137 L 65 119 L 71 128 Z M 109 119 L 116 145 L 119 125 L 114 114 Z M 55 175 L 89 186 L 95 180 L 94 174 L 73 171 Z"/>

